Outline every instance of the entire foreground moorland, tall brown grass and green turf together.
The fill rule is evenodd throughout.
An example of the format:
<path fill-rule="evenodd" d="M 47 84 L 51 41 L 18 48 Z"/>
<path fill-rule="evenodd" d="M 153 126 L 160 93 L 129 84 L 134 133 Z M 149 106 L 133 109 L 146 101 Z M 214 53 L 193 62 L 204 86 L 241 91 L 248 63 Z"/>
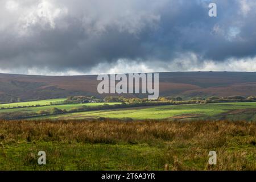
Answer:
<path fill-rule="evenodd" d="M 0 121 L 0 170 L 256 170 L 255 146 L 255 122 Z"/>

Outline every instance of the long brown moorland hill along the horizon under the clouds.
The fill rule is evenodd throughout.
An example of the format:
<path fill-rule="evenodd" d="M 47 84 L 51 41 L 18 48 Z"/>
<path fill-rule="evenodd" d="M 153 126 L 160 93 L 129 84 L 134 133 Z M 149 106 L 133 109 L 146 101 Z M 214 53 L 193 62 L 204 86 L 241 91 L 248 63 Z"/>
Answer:
<path fill-rule="evenodd" d="M 32 76 L 0 74 L 0 102 L 67 96 L 98 96 L 97 76 Z M 256 72 L 159 73 L 160 96 L 209 97 L 256 95 Z M 133 95 L 126 95 L 134 97 Z M 137 95 L 143 97 L 143 95 Z M 137 97 L 135 96 L 135 97 Z M 146 95 L 144 96 L 146 97 Z"/>

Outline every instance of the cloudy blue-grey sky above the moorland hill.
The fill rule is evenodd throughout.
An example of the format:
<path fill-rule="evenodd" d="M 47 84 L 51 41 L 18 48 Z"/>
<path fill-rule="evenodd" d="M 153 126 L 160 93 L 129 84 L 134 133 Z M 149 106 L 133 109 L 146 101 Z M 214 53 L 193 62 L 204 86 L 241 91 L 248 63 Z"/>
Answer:
<path fill-rule="evenodd" d="M 0 65 L 29 75 L 254 72 L 256 1 L 0 0 Z"/>

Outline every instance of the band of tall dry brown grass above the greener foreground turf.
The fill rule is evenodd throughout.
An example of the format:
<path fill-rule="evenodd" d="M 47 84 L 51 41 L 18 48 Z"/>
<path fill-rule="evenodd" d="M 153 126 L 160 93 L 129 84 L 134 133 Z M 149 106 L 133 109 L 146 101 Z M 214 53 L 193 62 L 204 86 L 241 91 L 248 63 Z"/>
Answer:
<path fill-rule="evenodd" d="M 221 146 L 228 138 L 249 136 L 256 142 L 255 122 L 230 121 L 0 121 L 0 140 L 45 140 L 89 143 L 154 143 L 183 140 L 205 147 Z M 209 146 L 207 146 L 209 145 Z"/>

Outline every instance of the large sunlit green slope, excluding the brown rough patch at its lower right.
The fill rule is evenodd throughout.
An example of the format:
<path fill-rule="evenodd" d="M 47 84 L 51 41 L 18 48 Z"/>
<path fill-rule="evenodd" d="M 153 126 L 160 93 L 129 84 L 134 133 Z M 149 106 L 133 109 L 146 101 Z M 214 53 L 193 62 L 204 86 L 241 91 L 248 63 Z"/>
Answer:
<path fill-rule="evenodd" d="M 47 117 L 38 117 L 36 119 L 83 119 L 83 118 L 124 118 L 134 119 L 164 119 L 184 114 L 199 114 L 199 118 L 214 117 L 221 113 L 235 109 L 255 109 L 256 102 L 249 103 L 226 103 L 226 104 L 190 104 L 190 105 L 172 105 L 172 106 L 152 106 L 152 107 L 134 107 L 114 110 L 86 111 L 80 113 L 69 113 L 59 115 L 49 115 Z M 231 115 L 233 116 L 233 115 Z M 240 114 L 240 119 L 249 120 L 247 115 Z M 250 119 L 255 118 L 255 113 L 251 113 Z"/>

